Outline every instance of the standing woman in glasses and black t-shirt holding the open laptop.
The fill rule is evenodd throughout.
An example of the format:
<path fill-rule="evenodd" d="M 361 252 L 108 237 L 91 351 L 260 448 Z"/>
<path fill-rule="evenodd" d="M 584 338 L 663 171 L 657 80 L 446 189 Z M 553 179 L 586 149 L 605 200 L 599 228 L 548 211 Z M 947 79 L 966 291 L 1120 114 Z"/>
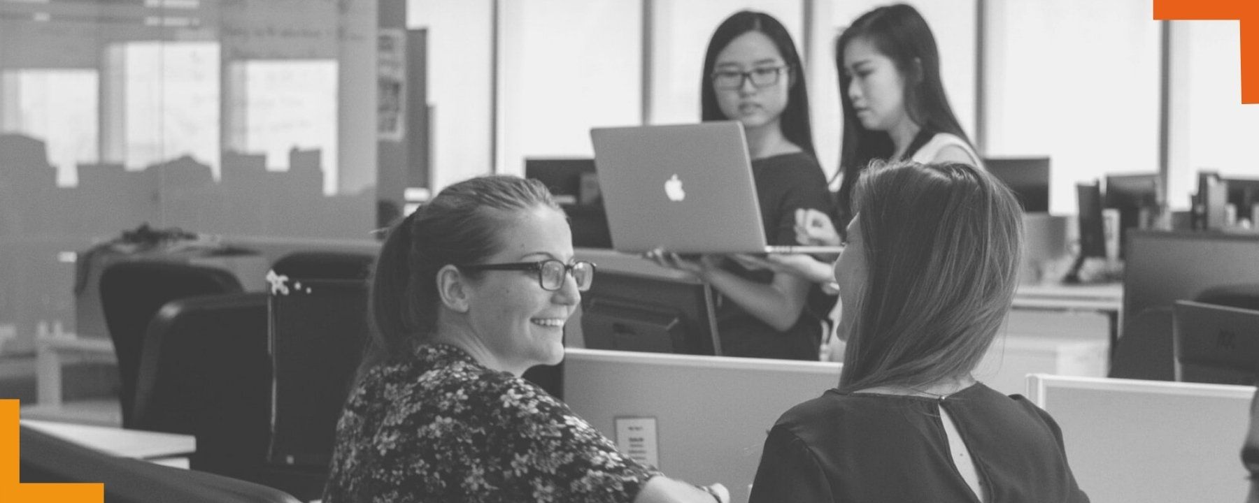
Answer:
<path fill-rule="evenodd" d="M 782 23 L 735 13 L 718 26 L 704 58 L 704 121 L 739 121 L 748 138 L 760 218 L 772 245 L 796 241 L 796 211 L 831 211 L 826 176 L 813 152 L 805 72 Z M 817 360 L 821 316 L 833 297 L 793 274 L 747 257 L 648 254 L 691 272 L 720 294 L 718 331 L 728 356 Z"/>

